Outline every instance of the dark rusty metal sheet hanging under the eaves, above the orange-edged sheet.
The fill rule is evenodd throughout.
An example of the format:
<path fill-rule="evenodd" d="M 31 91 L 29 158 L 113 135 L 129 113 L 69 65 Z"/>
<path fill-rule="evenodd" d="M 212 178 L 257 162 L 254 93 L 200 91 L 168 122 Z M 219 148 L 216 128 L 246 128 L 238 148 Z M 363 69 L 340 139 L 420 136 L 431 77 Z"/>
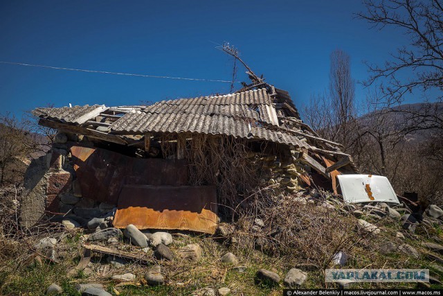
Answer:
<path fill-rule="evenodd" d="M 188 184 L 186 159 L 139 159 L 100 148 L 71 147 L 82 196 L 117 204 L 123 184 Z"/>

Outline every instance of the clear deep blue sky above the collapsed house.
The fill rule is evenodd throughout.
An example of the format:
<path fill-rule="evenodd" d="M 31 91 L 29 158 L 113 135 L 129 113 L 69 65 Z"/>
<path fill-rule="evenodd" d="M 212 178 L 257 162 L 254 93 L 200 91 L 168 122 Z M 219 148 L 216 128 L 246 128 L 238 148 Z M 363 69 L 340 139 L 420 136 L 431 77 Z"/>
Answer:
<path fill-rule="evenodd" d="M 356 81 L 363 61 L 381 63 L 408 38 L 354 19 L 343 1 L 0 1 L 0 61 L 102 71 L 230 80 L 224 41 L 301 109 L 323 92 L 329 55 L 347 52 Z M 238 80 L 247 81 L 239 67 Z M 239 85 L 237 85 L 239 87 Z M 0 64 L 1 112 L 227 93 L 229 83 L 114 76 Z M 356 97 L 367 89 L 356 85 Z"/>

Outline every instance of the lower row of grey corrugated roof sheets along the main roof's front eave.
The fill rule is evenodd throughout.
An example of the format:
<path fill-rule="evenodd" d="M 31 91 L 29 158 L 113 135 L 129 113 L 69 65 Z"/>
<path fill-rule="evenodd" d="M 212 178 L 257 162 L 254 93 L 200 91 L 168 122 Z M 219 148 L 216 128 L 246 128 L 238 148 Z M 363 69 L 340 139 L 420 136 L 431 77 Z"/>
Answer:
<path fill-rule="evenodd" d="M 286 132 L 272 130 L 262 123 L 244 118 L 208 114 L 127 113 L 110 126 L 116 132 L 197 132 L 226 134 L 246 139 L 263 139 L 300 148 L 310 148 L 305 141 Z"/>

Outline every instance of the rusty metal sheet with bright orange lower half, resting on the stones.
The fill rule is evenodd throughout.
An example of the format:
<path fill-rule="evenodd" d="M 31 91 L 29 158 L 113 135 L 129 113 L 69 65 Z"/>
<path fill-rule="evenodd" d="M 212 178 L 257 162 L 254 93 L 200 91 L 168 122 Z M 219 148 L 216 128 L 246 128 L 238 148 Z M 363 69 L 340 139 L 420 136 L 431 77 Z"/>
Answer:
<path fill-rule="evenodd" d="M 123 185 L 114 227 L 179 229 L 214 234 L 217 228 L 215 186 Z"/>

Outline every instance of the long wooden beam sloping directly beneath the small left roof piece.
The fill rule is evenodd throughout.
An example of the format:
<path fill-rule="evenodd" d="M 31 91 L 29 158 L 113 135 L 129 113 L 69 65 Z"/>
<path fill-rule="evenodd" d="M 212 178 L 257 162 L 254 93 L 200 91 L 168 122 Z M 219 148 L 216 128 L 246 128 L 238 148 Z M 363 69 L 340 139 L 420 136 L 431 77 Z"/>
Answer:
<path fill-rule="evenodd" d="M 89 128 L 82 128 L 78 125 L 69 125 L 66 123 L 60 123 L 57 121 L 51 121 L 48 119 L 40 119 L 39 125 L 60 130 L 61 132 L 72 132 L 73 134 L 83 134 L 87 137 L 94 139 L 100 139 L 111 143 L 117 143 L 120 145 L 126 145 L 127 141 L 113 134 L 107 134 L 106 132 L 99 132 L 98 130 L 91 130 Z"/>

